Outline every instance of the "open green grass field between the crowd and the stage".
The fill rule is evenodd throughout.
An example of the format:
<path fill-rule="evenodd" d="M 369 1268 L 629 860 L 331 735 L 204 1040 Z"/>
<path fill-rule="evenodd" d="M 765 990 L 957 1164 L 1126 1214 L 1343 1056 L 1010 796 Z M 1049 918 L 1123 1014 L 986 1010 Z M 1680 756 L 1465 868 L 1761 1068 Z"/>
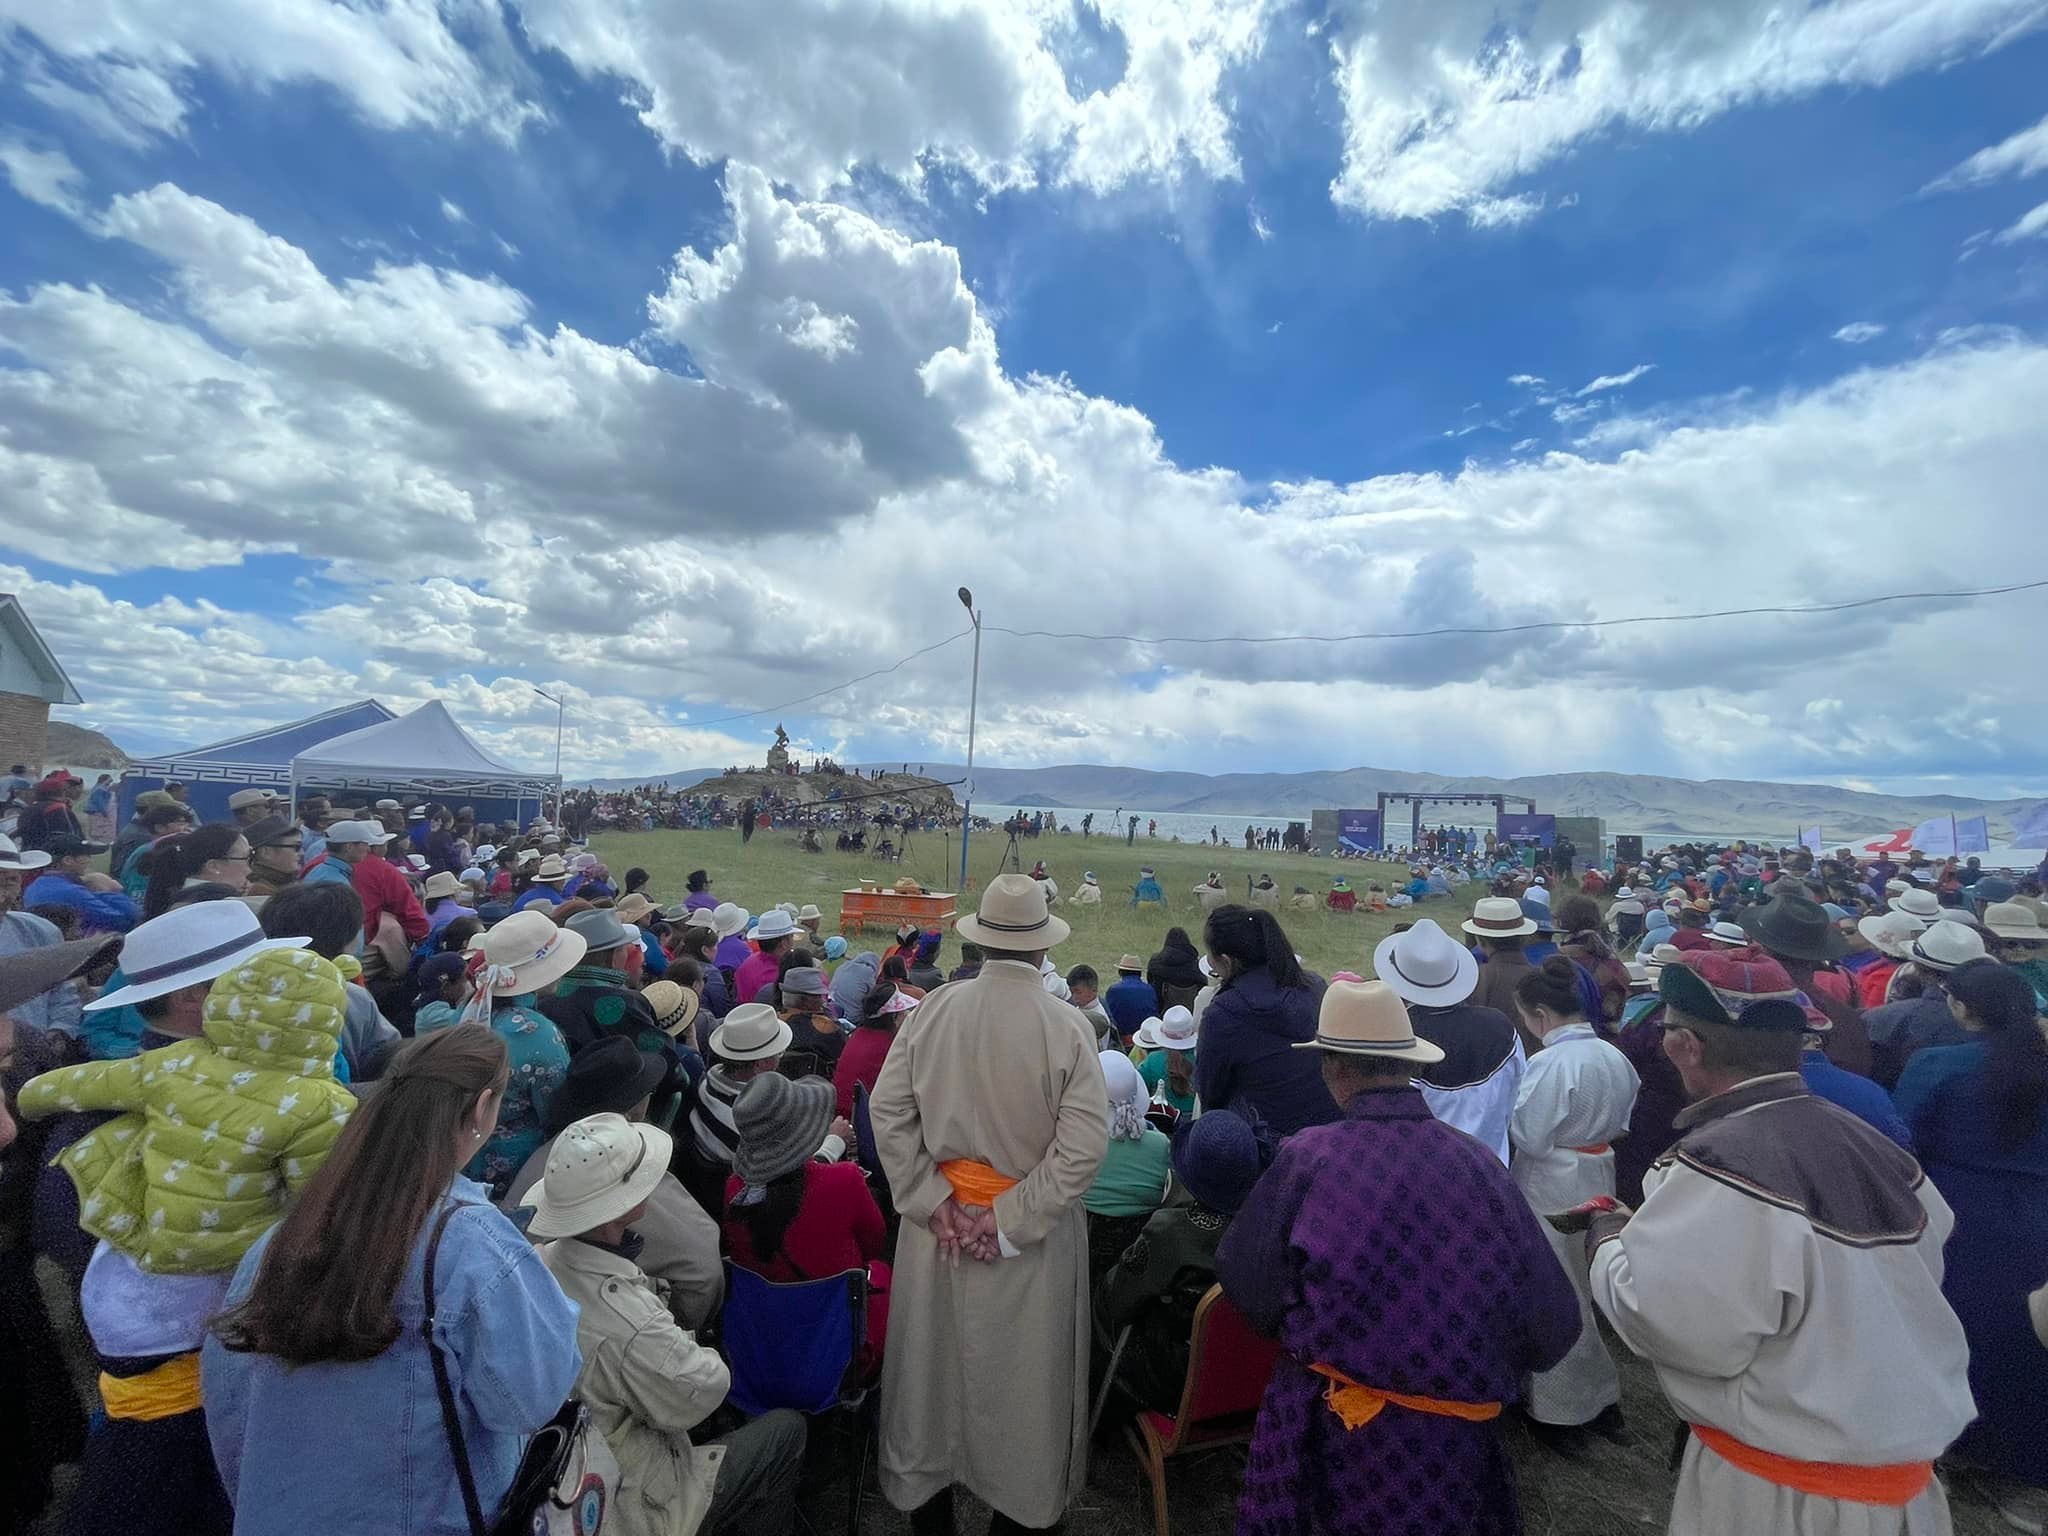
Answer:
<path fill-rule="evenodd" d="M 969 891 L 961 897 L 961 911 L 975 907 L 975 891 L 989 883 L 1004 868 L 1004 834 L 975 834 L 969 842 Z M 737 831 L 614 831 L 598 834 L 592 850 L 606 862 L 614 879 L 623 879 L 635 864 L 651 877 L 649 891 L 664 905 L 680 901 L 684 879 L 692 868 L 711 870 L 711 889 L 725 901 L 737 901 L 750 911 L 772 907 L 776 901 L 799 905 L 815 901 L 825 913 L 825 932 L 836 932 L 840 918 L 840 891 L 858 885 L 860 877 L 870 877 L 883 885 L 907 874 L 932 891 L 952 891 L 961 868 L 958 836 L 915 834 L 909 854 L 901 864 L 885 864 L 872 854 L 825 852 L 807 854 L 797 848 L 797 834 L 770 829 L 754 834 L 754 842 L 741 848 Z M 1307 854 L 1247 854 L 1243 848 L 1198 848 L 1192 844 L 1147 842 L 1124 846 L 1120 838 L 1087 838 L 1077 834 L 1020 838 L 1018 852 L 1024 868 L 1042 858 L 1047 870 L 1059 883 L 1061 895 L 1081 885 L 1081 870 L 1094 870 L 1102 883 L 1100 907 L 1075 907 L 1071 899 L 1061 901 L 1059 913 L 1073 924 L 1073 938 L 1059 946 L 1055 963 L 1061 969 L 1094 965 L 1104 975 L 1116 965 L 1116 956 L 1135 952 L 1149 956 L 1159 948 L 1165 930 L 1180 924 L 1200 942 L 1202 909 L 1194 901 L 1194 887 L 1217 870 L 1231 889 L 1233 899 L 1245 899 L 1245 883 L 1260 872 L 1272 872 L 1282 893 L 1292 893 L 1296 885 L 1307 885 L 1321 897 L 1329 891 L 1329 881 L 1343 874 L 1352 887 L 1364 893 L 1368 881 L 1389 885 L 1407 879 L 1403 864 L 1370 864 L 1358 860 L 1309 858 Z M 1159 907 L 1130 907 L 1130 887 L 1137 885 L 1139 866 L 1151 864 L 1165 887 L 1167 911 Z M 1466 887 L 1473 897 L 1479 887 Z M 1464 918 L 1466 903 L 1436 901 L 1421 907 L 1421 915 L 1446 922 L 1448 915 Z M 1294 950 L 1319 973 L 1358 971 L 1372 975 L 1372 946 L 1393 932 L 1395 913 L 1372 915 L 1366 911 L 1335 913 L 1327 907 L 1317 911 L 1282 911 L 1280 924 L 1286 928 Z M 1446 924 L 1448 926 L 1448 924 Z M 872 932 L 872 930 L 870 930 Z M 877 940 L 883 934 L 872 934 Z M 858 944 L 856 944 L 858 948 Z M 956 961 L 958 946 L 948 936 L 944 958 Z"/>

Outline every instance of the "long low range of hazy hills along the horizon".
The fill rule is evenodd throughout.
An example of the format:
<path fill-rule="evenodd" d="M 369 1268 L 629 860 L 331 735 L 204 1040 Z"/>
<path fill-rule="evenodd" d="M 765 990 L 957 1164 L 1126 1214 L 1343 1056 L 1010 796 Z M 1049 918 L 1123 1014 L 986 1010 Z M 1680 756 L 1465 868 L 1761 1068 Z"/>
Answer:
<path fill-rule="evenodd" d="M 870 764 L 897 770 L 903 764 Z M 956 780 L 958 764 L 909 764 L 928 778 Z M 598 788 L 643 782 L 694 784 L 719 770 L 686 770 L 649 778 L 600 778 Z M 961 795 L 963 791 L 954 791 Z M 1372 807 L 1389 795 L 1522 795 L 1538 811 L 1597 815 L 1608 834 L 1726 834 L 1790 840 L 1798 827 L 1821 827 L 1829 840 L 1874 838 L 1919 825 L 1935 815 L 1991 823 L 1991 842 L 2011 834 L 2013 819 L 2040 801 L 1976 801 L 1958 795 L 1868 795 L 1835 784 L 1772 784 L 1747 778 L 1665 778 L 1661 774 L 1534 774 L 1528 778 L 1460 778 L 1399 768 L 1343 768 L 1307 774 L 1182 774 L 1149 768 L 1071 764 L 1061 768 L 975 768 L 975 799 L 985 805 L 1100 807 L 1184 811 L 1194 815 L 1307 815 L 1315 809 Z"/>

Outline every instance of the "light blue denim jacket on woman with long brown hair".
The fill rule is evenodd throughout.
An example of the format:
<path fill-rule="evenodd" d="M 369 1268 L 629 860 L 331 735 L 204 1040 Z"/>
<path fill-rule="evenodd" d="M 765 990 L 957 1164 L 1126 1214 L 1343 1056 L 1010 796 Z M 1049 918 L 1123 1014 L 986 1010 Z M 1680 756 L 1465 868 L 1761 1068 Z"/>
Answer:
<path fill-rule="evenodd" d="M 471 1208 L 449 1223 L 434 1260 L 434 1337 L 449 1360 L 477 1495 L 496 1509 L 528 1436 L 555 1417 L 584 1358 L 575 1305 L 539 1249 L 469 1180 L 457 1178 L 449 1198 Z M 236 1503 L 236 1536 L 469 1536 L 420 1337 L 436 1221 L 438 1210 L 414 1243 L 393 1305 L 399 1335 L 381 1356 L 287 1368 L 207 1339 L 207 1436 Z M 242 1260 L 227 1305 L 248 1296 L 274 1235 L 264 1233 Z"/>

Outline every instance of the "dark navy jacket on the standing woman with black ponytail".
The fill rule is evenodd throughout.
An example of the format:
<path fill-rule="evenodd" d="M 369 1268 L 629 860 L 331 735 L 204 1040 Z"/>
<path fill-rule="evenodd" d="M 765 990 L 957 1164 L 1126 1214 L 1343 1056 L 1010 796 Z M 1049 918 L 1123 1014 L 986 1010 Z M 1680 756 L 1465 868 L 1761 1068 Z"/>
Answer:
<path fill-rule="evenodd" d="M 1315 1038 L 1321 1006 L 1319 979 L 1303 973 L 1298 987 L 1280 987 L 1266 967 L 1219 991 L 1202 1012 L 1194 1051 L 1194 1092 L 1202 1108 L 1255 1110 L 1280 1137 L 1341 1120 L 1323 1083 L 1321 1053 L 1294 1049 Z"/>

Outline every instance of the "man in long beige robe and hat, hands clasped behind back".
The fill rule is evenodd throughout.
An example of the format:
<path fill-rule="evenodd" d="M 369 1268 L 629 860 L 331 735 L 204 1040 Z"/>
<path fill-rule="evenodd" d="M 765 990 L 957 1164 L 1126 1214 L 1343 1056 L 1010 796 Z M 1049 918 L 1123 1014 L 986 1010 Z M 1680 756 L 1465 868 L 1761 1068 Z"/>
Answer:
<path fill-rule="evenodd" d="M 881 1483 L 915 1536 L 954 1536 L 954 1483 L 1004 1536 L 1059 1526 L 1087 1475 L 1081 1196 L 1110 1116 L 1094 1032 L 1038 981 L 1067 938 L 1038 883 L 995 877 L 958 934 L 981 975 L 909 1016 L 872 1100 L 903 1214 Z"/>

